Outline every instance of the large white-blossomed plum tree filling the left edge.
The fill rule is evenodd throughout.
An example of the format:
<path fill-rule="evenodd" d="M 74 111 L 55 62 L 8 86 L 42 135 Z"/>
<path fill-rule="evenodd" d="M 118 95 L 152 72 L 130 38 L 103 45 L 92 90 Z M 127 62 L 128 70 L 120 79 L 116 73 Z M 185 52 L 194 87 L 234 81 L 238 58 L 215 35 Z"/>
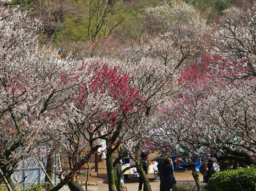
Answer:
<path fill-rule="evenodd" d="M 40 18 L 0 9 L 0 165 L 10 190 L 15 189 L 10 176 L 20 160 L 31 156 L 35 148 L 43 152 L 46 147 L 40 144 L 47 143 L 46 135 L 63 126 L 57 109 L 67 102 L 81 78 L 76 77 L 76 61 L 60 61 L 58 50 L 51 48 L 39 51 Z"/>

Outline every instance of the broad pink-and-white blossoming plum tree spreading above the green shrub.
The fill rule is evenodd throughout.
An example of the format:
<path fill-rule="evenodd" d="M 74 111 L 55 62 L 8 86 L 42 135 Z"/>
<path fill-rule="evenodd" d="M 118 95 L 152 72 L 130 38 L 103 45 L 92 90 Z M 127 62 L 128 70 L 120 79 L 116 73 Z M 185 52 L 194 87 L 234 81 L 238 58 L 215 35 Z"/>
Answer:
<path fill-rule="evenodd" d="M 211 69 L 210 65 L 221 59 L 210 57 L 205 55 L 200 64 L 181 71 L 180 93 L 147 118 L 148 142 L 155 150 L 167 147 L 170 155 L 197 158 L 210 153 L 218 160 L 255 164 L 255 79 L 216 77 L 228 72 Z M 150 144 L 145 146 L 150 148 Z M 200 189 L 199 181 L 197 186 Z"/>

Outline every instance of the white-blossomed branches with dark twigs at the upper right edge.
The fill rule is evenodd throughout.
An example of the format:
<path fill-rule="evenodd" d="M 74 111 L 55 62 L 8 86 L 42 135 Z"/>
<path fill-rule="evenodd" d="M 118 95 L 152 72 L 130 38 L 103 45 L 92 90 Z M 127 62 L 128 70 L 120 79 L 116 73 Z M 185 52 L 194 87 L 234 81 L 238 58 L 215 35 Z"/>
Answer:
<path fill-rule="evenodd" d="M 207 35 L 206 46 L 213 54 L 220 55 L 220 60 L 212 63 L 225 64 L 225 70 L 231 78 L 255 75 L 255 3 L 252 8 L 229 11 L 219 25 L 213 26 Z M 222 70 L 222 68 L 219 68 Z"/>

